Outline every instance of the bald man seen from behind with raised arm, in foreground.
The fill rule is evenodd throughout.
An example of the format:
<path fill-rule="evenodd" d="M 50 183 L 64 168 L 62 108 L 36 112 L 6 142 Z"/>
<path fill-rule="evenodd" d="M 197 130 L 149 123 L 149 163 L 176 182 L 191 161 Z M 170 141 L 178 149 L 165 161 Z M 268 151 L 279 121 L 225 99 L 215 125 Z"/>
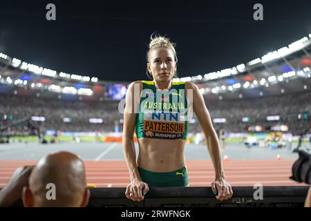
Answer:
<path fill-rule="evenodd" d="M 48 184 L 55 185 L 55 199 L 47 198 Z M 20 198 L 26 207 L 86 206 L 90 192 L 82 160 L 59 152 L 43 157 L 36 166 L 20 167 L 0 192 L 0 206 L 10 206 Z"/>

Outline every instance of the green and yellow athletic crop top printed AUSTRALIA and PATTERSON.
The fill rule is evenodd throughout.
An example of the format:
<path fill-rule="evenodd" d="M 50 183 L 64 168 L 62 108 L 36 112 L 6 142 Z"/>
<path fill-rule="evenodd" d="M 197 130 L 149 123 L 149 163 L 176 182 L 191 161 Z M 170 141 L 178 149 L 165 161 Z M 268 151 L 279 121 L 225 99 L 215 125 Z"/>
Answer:
<path fill-rule="evenodd" d="M 140 110 L 135 132 L 139 138 L 187 139 L 188 117 L 185 82 L 172 82 L 167 92 L 156 89 L 153 81 L 142 81 Z"/>

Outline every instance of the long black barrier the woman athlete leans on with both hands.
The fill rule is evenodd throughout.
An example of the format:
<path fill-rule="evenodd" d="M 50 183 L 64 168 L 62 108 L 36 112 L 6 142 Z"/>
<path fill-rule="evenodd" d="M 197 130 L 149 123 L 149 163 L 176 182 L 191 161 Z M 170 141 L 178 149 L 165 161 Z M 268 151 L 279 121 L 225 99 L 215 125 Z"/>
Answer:
<path fill-rule="evenodd" d="M 258 187 L 238 186 L 224 201 L 216 200 L 211 187 L 158 187 L 141 202 L 127 199 L 125 188 L 92 188 L 88 207 L 302 207 L 309 187 L 263 186 L 261 195 Z M 21 200 L 12 206 L 22 206 Z"/>

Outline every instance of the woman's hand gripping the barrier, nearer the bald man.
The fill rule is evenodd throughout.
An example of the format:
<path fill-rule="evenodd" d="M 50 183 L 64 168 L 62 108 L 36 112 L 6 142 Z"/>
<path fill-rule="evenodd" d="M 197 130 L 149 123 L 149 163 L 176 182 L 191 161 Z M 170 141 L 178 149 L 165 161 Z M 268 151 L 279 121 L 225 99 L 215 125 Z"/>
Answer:
<path fill-rule="evenodd" d="M 149 186 L 147 183 L 142 182 L 142 180 L 135 179 L 126 186 L 125 195 L 129 200 L 140 202 L 141 200 L 144 200 L 144 195 L 148 191 Z"/>

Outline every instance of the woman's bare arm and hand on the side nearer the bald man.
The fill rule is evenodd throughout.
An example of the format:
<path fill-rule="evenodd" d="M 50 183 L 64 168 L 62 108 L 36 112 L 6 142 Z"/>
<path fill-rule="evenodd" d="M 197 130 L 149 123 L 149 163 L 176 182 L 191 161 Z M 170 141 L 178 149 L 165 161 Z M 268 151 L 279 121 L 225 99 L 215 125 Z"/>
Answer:
<path fill-rule="evenodd" d="M 136 164 L 135 144 L 134 144 L 134 130 L 135 119 L 138 113 L 138 106 L 140 104 L 140 91 L 142 83 L 139 81 L 132 82 L 126 92 L 125 109 L 124 109 L 124 123 L 123 123 L 123 153 L 127 167 L 129 169 L 131 183 L 126 186 L 126 198 L 133 201 L 144 200 L 144 193 L 149 191 L 148 184 L 142 182 L 140 174 L 138 173 L 138 166 Z"/>

